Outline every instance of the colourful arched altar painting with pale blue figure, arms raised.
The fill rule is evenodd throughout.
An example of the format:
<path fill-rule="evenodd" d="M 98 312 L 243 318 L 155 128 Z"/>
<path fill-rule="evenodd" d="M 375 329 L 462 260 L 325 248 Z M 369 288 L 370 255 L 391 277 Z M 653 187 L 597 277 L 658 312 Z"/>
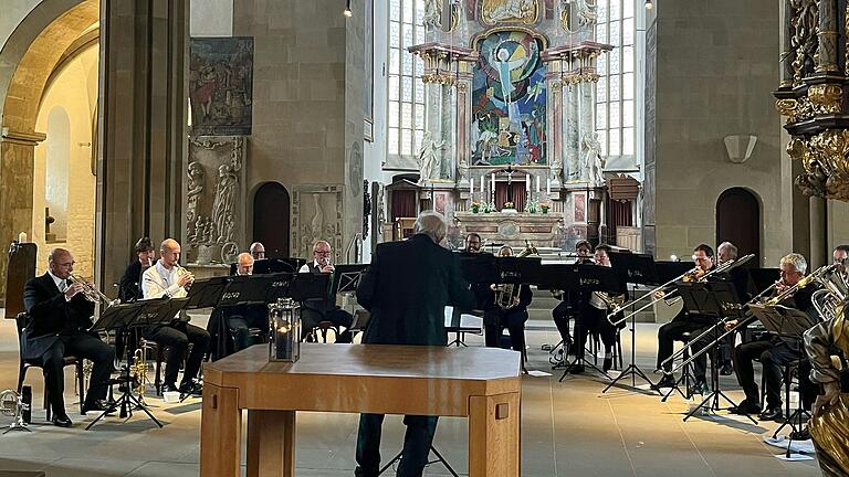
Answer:
<path fill-rule="evenodd" d="M 544 166 L 546 88 L 538 39 L 494 32 L 479 42 L 472 83 L 474 166 Z"/>

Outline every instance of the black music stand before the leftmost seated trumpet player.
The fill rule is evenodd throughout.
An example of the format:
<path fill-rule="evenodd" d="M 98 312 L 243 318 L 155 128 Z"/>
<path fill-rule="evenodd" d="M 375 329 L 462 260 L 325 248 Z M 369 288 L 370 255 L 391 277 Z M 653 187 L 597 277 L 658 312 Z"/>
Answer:
<path fill-rule="evenodd" d="M 134 328 L 147 328 L 156 325 L 166 325 L 171 322 L 174 316 L 186 306 L 186 298 L 175 299 L 151 299 L 142 300 L 125 305 L 115 305 L 106 308 L 97 322 L 90 329 L 90 331 L 109 331 L 116 330 L 116 333 L 123 335 L 125 339 Z M 142 410 L 147 416 L 156 423 L 159 427 L 163 427 L 154 415 L 148 411 L 147 406 L 136 396 L 133 395 L 133 377 L 129 373 L 130 363 L 133 362 L 133 349 L 127 348 L 127 363 L 124 365 L 124 375 L 118 378 L 118 382 L 124 383 L 124 391 L 115 402 L 109 403 L 109 407 L 106 409 L 92 421 L 85 430 L 88 431 L 105 415 L 114 413 L 120 407 L 120 417 L 132 417 L 133 407 Z"/>

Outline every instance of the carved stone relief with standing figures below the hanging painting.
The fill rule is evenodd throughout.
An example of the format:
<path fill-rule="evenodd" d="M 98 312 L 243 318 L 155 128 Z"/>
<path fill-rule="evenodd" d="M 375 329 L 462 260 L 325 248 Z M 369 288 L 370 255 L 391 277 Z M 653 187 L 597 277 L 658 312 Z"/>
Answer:
<path fill-rule="evenodd" d="M 189 140 L 184 245 L 188 263 L 229 264 L 243 248 L 245 150 L 241 136 Z"/>

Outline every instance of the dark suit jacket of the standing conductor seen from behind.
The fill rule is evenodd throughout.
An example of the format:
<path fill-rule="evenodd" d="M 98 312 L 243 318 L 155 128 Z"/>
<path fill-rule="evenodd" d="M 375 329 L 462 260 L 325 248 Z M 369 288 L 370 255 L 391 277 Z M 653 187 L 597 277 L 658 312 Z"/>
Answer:
<path fill-rule="evenodd" d="M 455 254 L 417 234 L 377 246 L 357 288 L 370 311 L 364 343 L 446 346 L 444 307 L 472 308 Z"/>

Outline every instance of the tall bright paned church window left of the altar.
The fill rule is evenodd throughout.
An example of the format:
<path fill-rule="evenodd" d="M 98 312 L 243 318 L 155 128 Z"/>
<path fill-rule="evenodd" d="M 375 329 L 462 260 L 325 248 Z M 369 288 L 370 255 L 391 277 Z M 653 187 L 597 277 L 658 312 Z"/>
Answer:
<path fill-rule="evenodd" d="M 389 156 L 413 156 L 424 136 L 424 64 L 408 47 L 424 42 L 424 0 L 389 0 Z"/>

